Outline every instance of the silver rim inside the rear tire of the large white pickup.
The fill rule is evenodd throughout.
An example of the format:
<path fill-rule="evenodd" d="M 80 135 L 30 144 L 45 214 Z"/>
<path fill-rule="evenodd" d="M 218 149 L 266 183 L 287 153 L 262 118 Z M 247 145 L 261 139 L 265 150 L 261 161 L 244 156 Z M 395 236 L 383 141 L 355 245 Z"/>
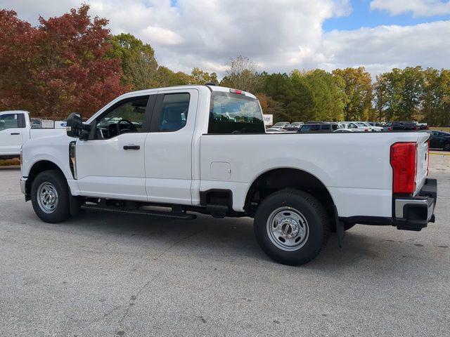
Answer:
<path fill-rule="evenodd" d="M 280 207 L 273 211 L 266 223 L 270 241 L 283 251 L 297 251 L 309 237 L 307 219 L 292 207 Z"/>

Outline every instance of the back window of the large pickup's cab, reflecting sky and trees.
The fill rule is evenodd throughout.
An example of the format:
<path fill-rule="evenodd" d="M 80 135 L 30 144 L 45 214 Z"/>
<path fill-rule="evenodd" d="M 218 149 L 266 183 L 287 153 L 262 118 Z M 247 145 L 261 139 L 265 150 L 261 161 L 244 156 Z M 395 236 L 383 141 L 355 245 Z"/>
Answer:
<path fill-rule="evenodd" d="M 236 93 L 212 93 L 208 133 L 265 133 L 261 107 L 255 98 Z"/>

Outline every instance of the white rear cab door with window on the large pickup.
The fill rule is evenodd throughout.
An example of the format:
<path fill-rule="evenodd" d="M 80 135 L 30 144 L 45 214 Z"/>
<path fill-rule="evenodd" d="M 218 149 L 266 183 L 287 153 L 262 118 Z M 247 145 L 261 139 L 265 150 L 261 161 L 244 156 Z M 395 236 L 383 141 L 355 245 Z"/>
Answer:
<path fill-rule="evenodd" d="M 191 204 L 197 106 L 196 89 L 158 92 L 145 146 L 148 201 Z"/>

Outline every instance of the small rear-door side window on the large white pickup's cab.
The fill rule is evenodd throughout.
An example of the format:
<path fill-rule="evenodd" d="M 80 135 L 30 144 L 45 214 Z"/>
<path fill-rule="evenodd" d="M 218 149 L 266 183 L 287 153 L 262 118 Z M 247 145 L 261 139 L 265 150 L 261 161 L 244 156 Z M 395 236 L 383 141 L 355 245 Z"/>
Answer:
<path fill-rule="evenodd" d="M 166 93 L 157 106 L 152 122 L 153 131 L 178 131 L 188 120 L 189 93 Z M 158 103 L 157 103 L 158 105 Z"/>

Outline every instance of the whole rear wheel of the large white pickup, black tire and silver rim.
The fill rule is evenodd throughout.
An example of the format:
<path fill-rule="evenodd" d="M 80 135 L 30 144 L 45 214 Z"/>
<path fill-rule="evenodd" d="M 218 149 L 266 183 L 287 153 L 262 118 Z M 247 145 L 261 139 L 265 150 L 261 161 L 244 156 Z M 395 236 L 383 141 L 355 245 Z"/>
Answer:
<path fill-rule="evenodd" d="M 287 213 L 284 213 L 284 208 L 288 209 Z M 280 209 L 281 211 L 278 211 Z M 274 212 L 278 211 L 278 213 L 281 213 L 281 216 L 285 216 L 286 218 L 283 219 L 285 221 L 290 219 L 290 210 L 294 213 L 299 213 L 302 216 L 301 218 L 306 221 L 301 227 L 308 234 L 304 234 L 303 238 L 300 238 L 302 239 L 301 246 L 298 246 L 298 248 L 291 246 L 288 248 L 291 250 L 287 251 L 287 248 L 277 246 L 277 244 L 283 245 L 280 241 L 283 237 L 276 239 L 278 234 L 269 234 L 269 232 L 272 230 L 272 222 L 270 220 Z M 275 220 L 274 228 L 280 228 L 282 231 L 281 235 L 292 234 L 293 227 L 290 227 L 291 233 L 283 231 L 283 221 L 275 225 Z M 300 223 L 300 221 L 297 222 Z M 289 225 L 284 228 L 289 230 Z M 254 229 L 259 246 L 270 258 L 283 265 L 302 265 L 315 258 L 325 246 L 330 232 L 330 223 L 326 210 L 311 194 L 298 190 L 281 190 L 266 197 L 259 205 L 255 214 Z M 298 237 L 294 238 L 295 242 L 297 239 Z"/>

